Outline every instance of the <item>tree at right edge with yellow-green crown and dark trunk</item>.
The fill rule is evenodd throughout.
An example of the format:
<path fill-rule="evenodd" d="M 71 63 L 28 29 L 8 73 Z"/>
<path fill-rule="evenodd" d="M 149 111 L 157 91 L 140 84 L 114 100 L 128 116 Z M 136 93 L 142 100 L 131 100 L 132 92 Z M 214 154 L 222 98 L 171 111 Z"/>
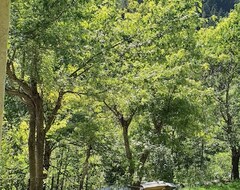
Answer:
<path fill-rule="evenodd" d="M 219 116 L 232 155 L 232 178 L 239 179 L 239 13 L 237 5 L 216 28 L 200 32 L 205 82 L 214 89 Z M 221 118 L 221 119 L 220 119 Z"/>

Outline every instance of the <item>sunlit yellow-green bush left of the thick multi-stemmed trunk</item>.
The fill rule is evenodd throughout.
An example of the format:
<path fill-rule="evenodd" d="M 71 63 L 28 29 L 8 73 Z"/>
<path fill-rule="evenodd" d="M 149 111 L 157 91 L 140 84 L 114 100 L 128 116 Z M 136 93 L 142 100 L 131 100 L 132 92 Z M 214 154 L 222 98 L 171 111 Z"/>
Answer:
<path fill-rule="evenodd" d="M 1 154 L 7 156 L 2 156 L 0 161 L 1 189 L 23 189 L 28 183 L 27 128 L 27 123 L 22 121 L 5 132 Z"/>

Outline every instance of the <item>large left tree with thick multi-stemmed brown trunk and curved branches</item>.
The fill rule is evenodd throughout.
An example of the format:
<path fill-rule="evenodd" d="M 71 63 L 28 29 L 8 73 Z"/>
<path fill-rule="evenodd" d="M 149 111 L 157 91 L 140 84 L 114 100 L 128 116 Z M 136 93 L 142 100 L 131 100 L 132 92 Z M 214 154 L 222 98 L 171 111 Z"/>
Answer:
<path fill-rule="evenodd" d="M 48 167 L 44 163 L 45 148 L 48 147 L 45 146 L 46 136 L 66 94 L 65 81 L 54 84 L 61 69 L 68 70 L 67 64 L 61 62 L 66 54 L 60 53 L 62 49 L 53 47 L 60 45 L 59 36 L 69 39 L 71 35 L 69 33 L 63 35 L 62 30 L 55 34 L 54 30 L 58 27 L 63 29 L 60 27 L 65 23 L 62 18 L 69 18 L 69 12 L 65 10 L 72 3 L 72 1 L 30 1 L 26 4 L 23 1 L 13 2 L 6 91 L 19 97 L 28 109 L 31 190 L 43 188 L 43 180 L 46 178 L 43 171 Z M 64 46 L 65 42 L 62 43 L 62 47 Z M 58 74 L 53 75 L 54 72 Z M 60 77 L 57 78 L 60 80 Z"/>

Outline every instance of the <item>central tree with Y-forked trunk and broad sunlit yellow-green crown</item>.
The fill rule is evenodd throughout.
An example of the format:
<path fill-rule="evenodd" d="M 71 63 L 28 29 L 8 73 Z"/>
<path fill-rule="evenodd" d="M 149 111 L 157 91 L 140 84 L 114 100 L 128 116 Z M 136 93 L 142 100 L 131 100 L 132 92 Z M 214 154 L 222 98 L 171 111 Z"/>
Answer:
<path fill-rule="evenodd" d="M 97 73 L 99 78 L 98 75 L 92 77 L 96 88 L 106 91 L 99 100 L 104 101 L 121 126 L 128 162 L 128 180 L 131 184 L 141 183 L 142 171 L 138 169 L 143 169 L 149 156 L 148 148 L 139 150 L 141 153 L 138 152 L 136 155 L 135 146 L 131 145 L 131 138 L 134 136 L 131 131 L 133 131 L 132 126 L 139 127 L 134 121 L 135 116 L 142 115 L 146 111 L 142 108 L 144 104 L 149 104 L 151 91 L 156 94 L 156 99 L 167 104 L 175 85 L 179 89 L 176 90 L 176 97 L 173 96 L 173 99 L 177 100 L 180 94 L 188 89 L 185 85 L 191 88 L 195 85 L 193 79 L 187 78 L 190 76 L 190 67 L 193 64 L 192 40 L 197 25 L 193 5 L 194 2 L 179 4 L 175 1 L 165 4 L 150 1 L 143 3 L 142 7 L 134 3 L 129 4 L 124 19 L 119 19 L 117 25 L 111 25 L 114 31 L 112 38 L 122 37 L 124 41 L 114 49 L 110 49 L 108 54 L 103 54 L 105 62 Z M 169 11 L 175 6 L 174 11 Z M 111 35 L 112 31 L 108 28 L 104 29 L 102 36 L 105 33 Z M 189 102 L 192 101 L 189 94 L 186 95 L 187 98 Z M 152 104 L 155 106 L 159 102 Z M 187 100 L 182 102 L 183 106 L 192 103 L 188 103 Z M 153 112 L 159 114 L 157 109 Z M 187 115 L 187 112 L 185 114 Z M 138 167 L 137 163 L 140 162 L 142 166 Z"/>

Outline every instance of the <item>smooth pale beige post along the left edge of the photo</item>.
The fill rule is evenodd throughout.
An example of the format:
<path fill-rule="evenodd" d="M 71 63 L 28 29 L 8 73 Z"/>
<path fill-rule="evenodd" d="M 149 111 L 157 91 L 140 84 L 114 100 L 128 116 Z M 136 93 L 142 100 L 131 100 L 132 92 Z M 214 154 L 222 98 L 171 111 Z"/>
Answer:
<path fill-rule="evenodd" d="M 7 40 L 9 31 L 10 0 L 0 0 L 0 152 L 7 63 Z"/>

